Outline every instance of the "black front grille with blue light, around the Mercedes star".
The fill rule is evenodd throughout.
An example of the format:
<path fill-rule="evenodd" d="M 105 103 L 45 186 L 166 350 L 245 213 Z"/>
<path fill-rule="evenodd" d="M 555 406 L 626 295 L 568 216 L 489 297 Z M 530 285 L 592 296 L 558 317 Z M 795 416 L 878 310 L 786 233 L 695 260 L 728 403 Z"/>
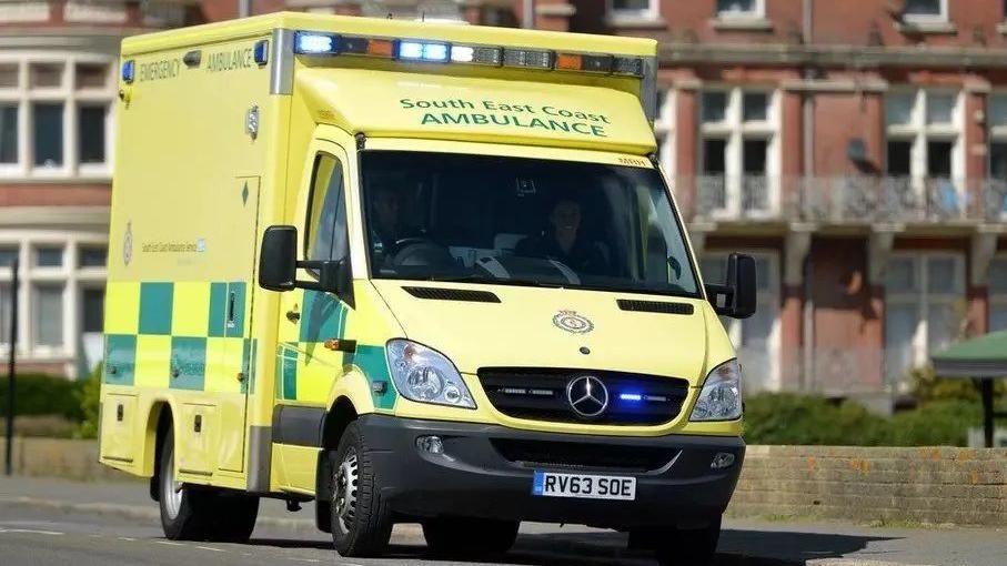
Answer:
<path fill-rule="evenodd" d="M 567 395 L 571 382 L 588 375 L 605 385 L 608 397 L 593 417 L 578 414 Z M 479 380 L 501 413 L 553 423 L 657 425 L 678 416 L 688 394 L 685 380 L 591 370 L 484 367 Z"/>

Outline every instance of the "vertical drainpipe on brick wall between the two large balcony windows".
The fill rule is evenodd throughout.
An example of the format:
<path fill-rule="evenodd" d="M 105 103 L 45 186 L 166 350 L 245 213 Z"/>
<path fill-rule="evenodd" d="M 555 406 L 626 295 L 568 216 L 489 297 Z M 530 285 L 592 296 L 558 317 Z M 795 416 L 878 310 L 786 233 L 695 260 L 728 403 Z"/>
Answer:
<path fill-rule="evenodd" d="M 804 0 L 804 18 L 802 22 L 802 33 L 804 36 L 805 46 L 810 46 L 814 42 L 813 38 L 813 23 L 814 23 L 814 9 L 815 0 Z M 805 80 L 813 80 L 815 78 L 815 70 L 812 68 L 804 69 Z M 805 182 L 803 185 L 798 184 L 798 190 L 807 191 L 809 190 L 809 183 L 812 178 L 815 174 L 815 99 L 814 93 L 810 91 L 804 92 L 803 111 L 804 111 L 804 134 L 803 134 L 803 153 L 804 153 L 804 179 Z M 814 190 L 814 189 L 812 189 Z M 812 271 L 812 255 L 810 250 L 808 251 L 807 261 L 805 263 L 804 271 L 804 372 L 803 372 L 803 385 L 806 390 L 812 382 L 814 382 L 813 374 L 815 372 L 815 300 L 813 296 L 814 285 L 812 282 L 812 276 L 814 272 Z"/>

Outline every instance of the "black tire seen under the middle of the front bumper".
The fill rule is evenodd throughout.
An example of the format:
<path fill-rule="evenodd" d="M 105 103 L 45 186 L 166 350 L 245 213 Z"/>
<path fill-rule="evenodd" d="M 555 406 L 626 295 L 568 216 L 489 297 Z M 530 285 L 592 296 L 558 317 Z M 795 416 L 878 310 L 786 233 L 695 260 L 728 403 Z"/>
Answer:
<path fill-rule="evenodd" d="M 495 557 L 514 546 L 520 526 L 516 520 L 439 517 L 423 523 L 423 537 L 435 556 Z"/>

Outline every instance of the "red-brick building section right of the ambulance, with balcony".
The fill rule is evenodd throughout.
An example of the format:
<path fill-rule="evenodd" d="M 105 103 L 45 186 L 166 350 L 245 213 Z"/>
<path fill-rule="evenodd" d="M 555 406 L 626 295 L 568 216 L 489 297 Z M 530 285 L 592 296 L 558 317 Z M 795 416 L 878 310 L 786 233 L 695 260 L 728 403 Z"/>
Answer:
<path fill-rule="evenodd" d="M 562 3 L 572 31 L 661 41 L 661 161 L 704 271 L 747 250 L 764 274 L 729 323 L 749 384 L 885 405 L 935 347 L 1007 329 L 1007 2 Z"/>

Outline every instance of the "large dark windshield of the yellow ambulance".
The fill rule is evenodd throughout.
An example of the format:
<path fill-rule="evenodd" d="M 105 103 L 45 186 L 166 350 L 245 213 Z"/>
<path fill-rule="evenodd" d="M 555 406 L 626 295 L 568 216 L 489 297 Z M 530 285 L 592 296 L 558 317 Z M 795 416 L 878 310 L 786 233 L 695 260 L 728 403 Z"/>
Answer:
<path fill-rule="evenodd" d="M 656 169 L 411 151 L 361 162 L 375 279 L 698 296 Z"/>

